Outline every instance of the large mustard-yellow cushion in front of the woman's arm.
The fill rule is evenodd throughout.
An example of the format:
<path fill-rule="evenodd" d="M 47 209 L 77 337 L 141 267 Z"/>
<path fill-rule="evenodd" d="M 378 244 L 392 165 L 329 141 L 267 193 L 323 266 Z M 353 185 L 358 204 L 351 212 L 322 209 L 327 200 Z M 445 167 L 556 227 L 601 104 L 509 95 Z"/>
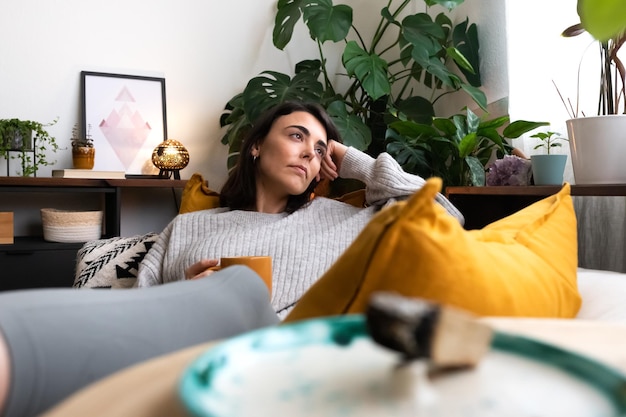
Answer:
<path fill-rule="evenodd" d="M 434 202 L 440 189 L 441 180 L 432 178 L 408 201 L 378 213 L 286 321 L 362 313 L 379 290 L 478 315 L 576 315 L 581 298 L 569 184 L 471 231 Z"/>

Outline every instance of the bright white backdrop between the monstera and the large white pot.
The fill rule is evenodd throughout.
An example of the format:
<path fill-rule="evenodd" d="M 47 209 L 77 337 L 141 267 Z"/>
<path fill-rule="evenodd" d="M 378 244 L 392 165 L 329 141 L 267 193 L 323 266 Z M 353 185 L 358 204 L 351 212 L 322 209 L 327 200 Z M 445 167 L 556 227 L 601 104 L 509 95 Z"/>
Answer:
<path fill-rule="evenodd" d="M 570 117 L 554 84 L 565 100 L 575 103 L 578 68 L 582 62 L 581 109 L 587 115 L 594 115 L 597 90 L 593 87 L 599 82 L 597 49 L 595 45 L 589 47 L 592 38 L 588 34 L 574 38 L 561 36 L 564 29 L 580 21 L 576 0 L 507 0 L 506 8 L 511 118 L 547 121 L 550 126 L 544 130 L 567 136 L 565 121 Z M 514 141 L 527 155 L 541 152 L 533 150 L 537 143 L 529 135 Z M 564 143 L 555 153 L 569 155 L 569 145 Z M 565 180 L 574 182 L 571 158 Z"/>

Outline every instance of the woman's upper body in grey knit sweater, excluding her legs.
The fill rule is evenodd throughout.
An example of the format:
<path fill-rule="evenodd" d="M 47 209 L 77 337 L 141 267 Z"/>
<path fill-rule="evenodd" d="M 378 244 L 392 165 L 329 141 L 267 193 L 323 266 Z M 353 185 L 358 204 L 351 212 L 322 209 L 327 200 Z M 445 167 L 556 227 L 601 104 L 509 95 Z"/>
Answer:
<path fill-rule="evenodd" d="M 321 178 L 366 186 L 367 208 L 311 200 Z M 257 122 L 221 190 L 222 208 L 177 216 L 143 260 L 138 286 L 209 275 L 225 256 L 272 257 L 272 306 L 284 318 L 352 243 L 381 205 L 424 184 L 388 154 L 377 159 L 339 142 L 319 106 L 283 103 Z M 441 203 L 462 220 L 443 196 Z"/>

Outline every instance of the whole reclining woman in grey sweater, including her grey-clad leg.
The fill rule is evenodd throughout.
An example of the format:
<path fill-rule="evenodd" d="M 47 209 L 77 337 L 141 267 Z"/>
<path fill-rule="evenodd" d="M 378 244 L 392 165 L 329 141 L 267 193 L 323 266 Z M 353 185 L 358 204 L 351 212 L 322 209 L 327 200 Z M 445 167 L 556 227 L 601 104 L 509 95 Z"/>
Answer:
<path fill-rule="evenodd" d="M 342 145 L 312 104 L 267 112 L 240 160 L 221 190 L 223 208 L 177 216 L 160 234 L 139 271 L 139 286 L 150 288 L 0 294 L 3 416 L 39 414 L 139 361 L 277 323 L 381 205 L 424 183 L 387 154 L 373 159 Z M 321 178 L 338 176 L 366 184 L 367 208 L 311 199 Z M 438 201 L 462 220 L 443 196 Z M 222 256 L 240 255 L 272 257 L 271 306 L 247 268 L 191 279 L 211 274 Z"/>

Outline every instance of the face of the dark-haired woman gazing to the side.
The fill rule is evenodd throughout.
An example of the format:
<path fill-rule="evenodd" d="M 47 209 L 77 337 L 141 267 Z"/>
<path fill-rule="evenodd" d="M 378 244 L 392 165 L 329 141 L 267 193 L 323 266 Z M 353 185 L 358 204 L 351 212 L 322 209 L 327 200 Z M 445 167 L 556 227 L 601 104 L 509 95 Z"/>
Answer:
<path fill-rule="evenodd" d="M 294 112 L 274 121 L 258 156 L 257 196 L 287 199 L 306 191 L 320 172 L 327 147 L 326 129 L 311 114 Z"/>

